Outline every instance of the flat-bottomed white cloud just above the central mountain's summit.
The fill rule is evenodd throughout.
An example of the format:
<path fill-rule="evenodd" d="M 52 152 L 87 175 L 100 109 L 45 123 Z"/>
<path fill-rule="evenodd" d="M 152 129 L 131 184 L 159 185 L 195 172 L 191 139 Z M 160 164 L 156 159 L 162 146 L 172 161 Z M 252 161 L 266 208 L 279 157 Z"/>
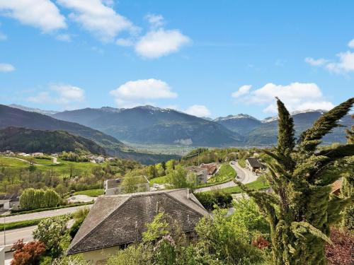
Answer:
<path fill-rule="evenodd" d="M 128 81 L 110 91 L 119 107 L 135 107 L 150 104 L 149 100 L 176 98 L 168 83 L 154 78 Z"/>

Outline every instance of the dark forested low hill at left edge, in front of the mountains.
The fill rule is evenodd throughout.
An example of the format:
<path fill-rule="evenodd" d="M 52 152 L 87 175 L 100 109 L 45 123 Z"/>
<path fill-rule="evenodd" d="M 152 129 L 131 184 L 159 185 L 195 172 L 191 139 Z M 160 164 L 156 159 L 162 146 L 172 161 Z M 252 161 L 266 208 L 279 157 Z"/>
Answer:
<path fill-rule="evenodd" d="M 0 129 L 0 151 L 6 150 L 25 153 L 105 153 L 97 143 L 66 131 L 40 131 L 18 127 Z"/>

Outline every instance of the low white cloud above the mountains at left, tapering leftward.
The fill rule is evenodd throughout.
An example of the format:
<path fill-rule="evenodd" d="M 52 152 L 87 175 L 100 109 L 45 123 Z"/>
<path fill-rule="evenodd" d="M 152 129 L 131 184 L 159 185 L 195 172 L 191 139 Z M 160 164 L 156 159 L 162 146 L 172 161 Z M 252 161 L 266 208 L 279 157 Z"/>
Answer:
<path fill-rule="evenodd" d="M 71 109 L 73 103 L 84 102 L 85 90 L 67 84 L 53 84 L 49 90 L 42 91 L 27 100 L 35 103 L 52 103 Z"/>

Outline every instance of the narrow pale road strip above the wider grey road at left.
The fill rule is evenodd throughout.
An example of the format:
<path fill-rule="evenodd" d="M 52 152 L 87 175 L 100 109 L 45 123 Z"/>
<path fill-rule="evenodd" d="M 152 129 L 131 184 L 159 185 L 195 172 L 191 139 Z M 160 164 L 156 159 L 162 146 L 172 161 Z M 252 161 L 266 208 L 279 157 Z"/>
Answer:
<path fill-rule="evenodd" d="M 17 216 L 7 216 L 5 218 L 6 219 L 5 223 L 12 223 L 12 222 L 17 222 L 17 221 L 21 221 L 21 220 L 33 220 L 33 219 L 39 219 L 39 218 L 47 218 L 47 217 L 53 217 L 53 216 L 62 216 L 67 213 L 74 213 L 79 208 L 84 208 L 84 207 L 91 208 L 92 205 L 93 204 L 88 204 L 88 205 L 84 205 L 84 206 L 61 208 L 61 209 L 52 210 L 52 211 L 41 211 L 39 213 L 25 213 L 25 214 L 19 214 Z M 4 220 L 4 218 L 1 218 L 1 219 Z"/>

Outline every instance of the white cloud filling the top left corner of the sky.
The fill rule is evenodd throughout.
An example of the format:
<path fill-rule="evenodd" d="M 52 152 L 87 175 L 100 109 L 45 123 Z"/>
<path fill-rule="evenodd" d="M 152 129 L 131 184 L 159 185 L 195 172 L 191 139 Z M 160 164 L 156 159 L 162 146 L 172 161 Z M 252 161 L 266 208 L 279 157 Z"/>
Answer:
<path fill-rule="evenodd" d="M 66 28 L 65 18 L 50 0 L 0 0 L 1 15 L 40 28 L 43 33 Z"/>

